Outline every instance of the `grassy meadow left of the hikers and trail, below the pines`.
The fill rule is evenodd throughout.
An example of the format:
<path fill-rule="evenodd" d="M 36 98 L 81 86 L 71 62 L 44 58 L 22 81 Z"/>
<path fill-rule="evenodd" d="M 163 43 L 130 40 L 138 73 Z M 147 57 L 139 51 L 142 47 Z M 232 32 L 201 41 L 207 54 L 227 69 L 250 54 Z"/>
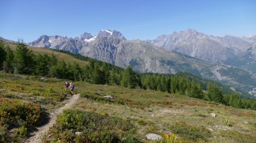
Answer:
<path fill-rule="evenodd" d="M 22 99 L 38 103 L 53 111 L 70 97 L 64 87 L 65 80 L 41 79 L 36 76 L 13 75 L 0 72 L 0 97 Z"/>

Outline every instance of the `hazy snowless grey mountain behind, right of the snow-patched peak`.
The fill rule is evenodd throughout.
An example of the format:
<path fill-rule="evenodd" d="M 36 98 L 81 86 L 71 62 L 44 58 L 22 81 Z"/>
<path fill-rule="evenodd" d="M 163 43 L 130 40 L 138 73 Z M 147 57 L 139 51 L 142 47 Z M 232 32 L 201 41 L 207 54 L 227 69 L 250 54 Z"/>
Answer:
<path fill-rule="evenodd" d="M 223 63 L 236 57 L 238 51 L 246 50 L 251 45 L 242 38 L 208 36 L 193 29 L 163 34 L 148 42 L 211 63 Z"/>

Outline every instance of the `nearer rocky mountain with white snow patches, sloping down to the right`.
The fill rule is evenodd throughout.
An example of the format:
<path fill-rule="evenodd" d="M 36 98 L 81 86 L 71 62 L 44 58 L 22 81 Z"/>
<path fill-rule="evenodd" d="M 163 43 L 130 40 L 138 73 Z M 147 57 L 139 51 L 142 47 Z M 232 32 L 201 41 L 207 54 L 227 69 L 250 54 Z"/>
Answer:
<path fill-rule="evenodd" d="M 187 34 L 188 37 L 193 34 L 205 37 L 203 34 L 195 31 Z M 47 45 L 51 38 L 57 42 Z M 29 45 L 67 50 L 123 68 L 131 65 L 137 72 L 189 72 L 200 77 L 232 85 L 234 88 L 242 89 L 243 91 L 249 91 L 256 85 L 255 75 L 241 68 L 207 63 L 203 60 L 162 49 L 140 40 L 126 40 L 117 31 L 100 31 L 97 36 L 92 37 L 89 35 L 86 38 L 84 41 L 81 41 L 79 38 L 64 37 L 59 40 L 59 37 L 49 36 L 49 38 L 44 40 L 40 37 L 39 40 L 31 42 Z M 64 39 L 64 42 L 61 42 L 63 41 L 62 39 Z M 81 45 L 75 46 L 76 43 Z M 226 53 L 221 55 L 233 55 L 230 50 L 222 49 L 222 52 L 225 51 Z M 216 50 L 218 49 L 216 48 Z"/>

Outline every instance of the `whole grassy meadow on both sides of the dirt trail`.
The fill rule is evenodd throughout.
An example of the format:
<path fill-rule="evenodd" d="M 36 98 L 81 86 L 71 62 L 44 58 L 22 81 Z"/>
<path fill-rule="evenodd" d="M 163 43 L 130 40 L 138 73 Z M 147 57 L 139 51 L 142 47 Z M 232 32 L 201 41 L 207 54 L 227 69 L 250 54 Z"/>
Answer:
<path fill-rule="evenodd" d="M 46 112 L 52 112 L 64 105 L 70 97 L 64 88 L 64 81 L 51 78 L 41 80 L 40 77 L 1 72 L 0 97 L 34 102 Z M 235 109 L 214 102 L 152 90 L 94 85 L 82 81 L 74 84 L 75 92 L 81 93 L 81 98 L 74 108 L 79 110 L 78 112 L 85 112 L 86 115 L 101 119 L 129 122 L 135 131 L 132 137 L 127 137 L 129 140 L 145 142 L 147 133 L 162 135 L 163 132 L 175 133 L 181 140 L 190 142 L 253 142 L 256 140 L 256 113 L 252 110 Z M 106 95 L 114 98 L 103 97 Z M 212 112 L 217 114 L 215 118 L 210 116 Z M 226 120 L 232 123 L 232 127 L 225 125 Z M 94 124 L 98 121 L 90 122 Z M 182 123 L 185 128 L 179 130 L 177 123 Z M 213 129 L 213 132 L 207 128 Z M 0 129 L 1 135 L 5 136 L 3 131 L 6 128 Z M 73 131 L 69 130 L 55 128 L 52 132 L 56 132 L 59 137 L 64 133 L 67 137 L 72 135 L 71 138 L 73 138 Z M 19 128 L 17 132 L 23 135 L 25 131 Z M 128 136 L 128 132 L 112 133 L 118 138 Z"/>

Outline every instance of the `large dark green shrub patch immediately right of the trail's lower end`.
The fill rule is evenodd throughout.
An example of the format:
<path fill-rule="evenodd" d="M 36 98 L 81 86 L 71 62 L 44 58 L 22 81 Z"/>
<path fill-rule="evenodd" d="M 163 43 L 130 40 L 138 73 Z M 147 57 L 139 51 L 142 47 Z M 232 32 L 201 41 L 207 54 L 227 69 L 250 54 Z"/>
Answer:
<path fill-rule="evenodd" d="M 67 109 L 57 116 L 57 122 L 49 133 L 51 138 L 45 142 L 57 141 L 58 138 L 61 142 L 122 142 L 122 137 L 133 135 L 135 128 L 127 120 Z"/>

